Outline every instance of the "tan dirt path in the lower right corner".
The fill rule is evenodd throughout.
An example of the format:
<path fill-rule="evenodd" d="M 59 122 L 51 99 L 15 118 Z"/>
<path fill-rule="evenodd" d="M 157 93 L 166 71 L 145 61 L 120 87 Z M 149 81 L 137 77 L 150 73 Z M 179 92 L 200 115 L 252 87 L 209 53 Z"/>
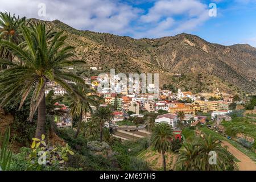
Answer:
<path fill-rule="evenodd" d="M 251 160 L 247 155 L 243 154 L 240 150 L 225 140 L 222 140 L 221 145 L 227 146 L 228 151 L 234 155 L 235 158 L 240 160 L 240 162 L 237 163 L 240 171 L 256 171 L 255 162 L 253 162 L 253 160 Z"/>

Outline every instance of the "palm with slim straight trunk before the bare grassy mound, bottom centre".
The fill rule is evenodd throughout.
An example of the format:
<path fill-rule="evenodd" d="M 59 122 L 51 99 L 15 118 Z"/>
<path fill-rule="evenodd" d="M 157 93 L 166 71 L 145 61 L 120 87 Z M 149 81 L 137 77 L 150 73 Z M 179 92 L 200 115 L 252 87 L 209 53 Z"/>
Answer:
<path fill-rule="evenodd" d="M 159 123 L 155 125 L 152 134 L 152 146 L 162 154 L 163 169 L 166 171 L 166 158 L 164 156 L 170 148 L 170 140 L 173 138 L 172 127 L 168 123 Z"/>

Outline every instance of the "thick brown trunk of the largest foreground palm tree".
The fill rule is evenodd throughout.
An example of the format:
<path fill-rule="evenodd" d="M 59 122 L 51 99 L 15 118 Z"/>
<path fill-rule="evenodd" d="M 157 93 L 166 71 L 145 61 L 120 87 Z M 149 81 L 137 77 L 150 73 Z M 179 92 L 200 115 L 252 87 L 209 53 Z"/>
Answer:
<path fill-rule="evenodd" d="M 41 139 L 42 135 L 46 135 L 46 94 L 38 105 L 38 124 L 36 126 L 35 138 Z"/>

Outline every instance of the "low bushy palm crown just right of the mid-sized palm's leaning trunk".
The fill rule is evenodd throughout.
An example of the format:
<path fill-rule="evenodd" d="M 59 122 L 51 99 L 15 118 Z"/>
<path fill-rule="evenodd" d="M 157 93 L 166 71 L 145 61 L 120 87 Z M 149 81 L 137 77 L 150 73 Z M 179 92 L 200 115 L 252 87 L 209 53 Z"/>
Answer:
<path fill-rule="evenodd" d="M 85 137 L 96 137 L 100 132 L 100 126 L 93 121 L 82 122 L 81 129 Z"/>

